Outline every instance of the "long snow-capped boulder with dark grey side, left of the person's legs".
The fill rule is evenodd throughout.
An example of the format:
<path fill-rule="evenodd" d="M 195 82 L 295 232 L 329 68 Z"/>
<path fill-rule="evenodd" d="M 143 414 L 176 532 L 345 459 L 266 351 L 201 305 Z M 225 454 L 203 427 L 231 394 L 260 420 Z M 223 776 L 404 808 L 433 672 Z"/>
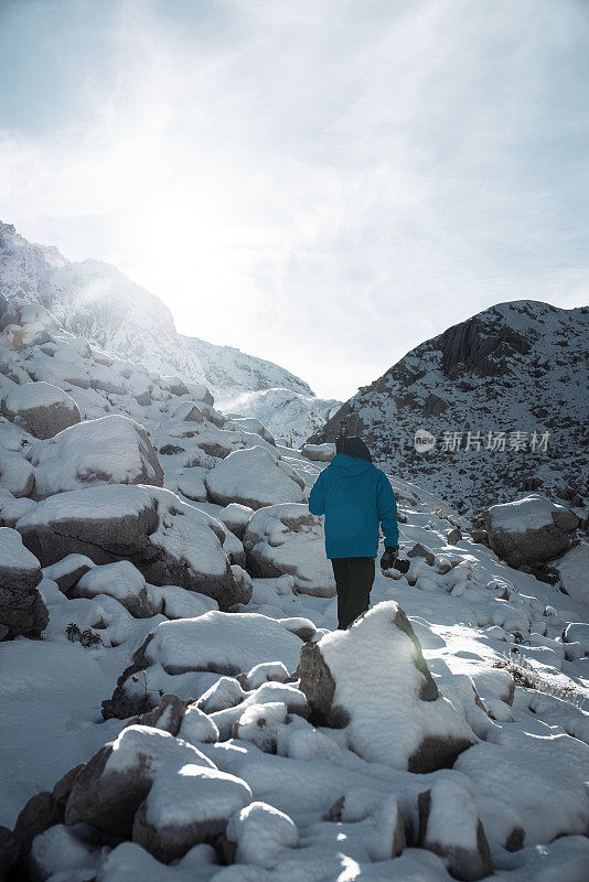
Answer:
<path fill-rule="evenodd" d="M 249 599 L 223 550 L 223 525 L 168 490 L 110 484 L 60 493 L 18 529 L 44 567 L 72 553 L 99 564 L 129 560 L 149 583 L 199 591 L 222 609 Z"/>

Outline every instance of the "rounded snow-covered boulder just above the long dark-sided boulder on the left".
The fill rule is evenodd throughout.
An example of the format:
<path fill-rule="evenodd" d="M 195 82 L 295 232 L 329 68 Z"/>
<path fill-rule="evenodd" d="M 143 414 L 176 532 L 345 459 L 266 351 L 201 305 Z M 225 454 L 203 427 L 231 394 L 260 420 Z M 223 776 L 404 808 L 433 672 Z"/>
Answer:
<path fill-rule="evenodd" d="M 35 498 L 97 484 L 151 484 L 163 471 L 148 433 L 128 417 L 86 420 L 41 441 L 31 451 Z"/>

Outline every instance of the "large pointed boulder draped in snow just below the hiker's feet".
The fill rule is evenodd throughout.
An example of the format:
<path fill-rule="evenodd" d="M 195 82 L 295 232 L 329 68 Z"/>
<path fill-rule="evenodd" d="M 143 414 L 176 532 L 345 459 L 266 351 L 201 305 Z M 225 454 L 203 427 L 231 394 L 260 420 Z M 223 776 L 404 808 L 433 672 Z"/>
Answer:
<path fill-rule="evenodd" d="M 426 773 L 451 767 L 476 736 L 428 670 L 419 641 L 394 602 L 379 603 L 347 631 L 307 643 L 300 689 L 317 725 L 345 729 L 368 762 Z"/>

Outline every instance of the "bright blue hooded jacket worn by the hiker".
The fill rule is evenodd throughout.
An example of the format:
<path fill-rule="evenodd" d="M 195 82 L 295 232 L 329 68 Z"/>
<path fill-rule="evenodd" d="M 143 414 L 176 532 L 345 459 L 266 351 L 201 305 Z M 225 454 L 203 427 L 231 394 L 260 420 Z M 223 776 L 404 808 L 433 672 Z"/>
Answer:
<path fill-rule="evenodd" d="M 328 558 L 375 558 L 378 524 L 385 546 L 398 544 L 397 503 L 388 477 L 367 460 L 338 453 L 309 496 L 312 515 L 325 515 Z"/>

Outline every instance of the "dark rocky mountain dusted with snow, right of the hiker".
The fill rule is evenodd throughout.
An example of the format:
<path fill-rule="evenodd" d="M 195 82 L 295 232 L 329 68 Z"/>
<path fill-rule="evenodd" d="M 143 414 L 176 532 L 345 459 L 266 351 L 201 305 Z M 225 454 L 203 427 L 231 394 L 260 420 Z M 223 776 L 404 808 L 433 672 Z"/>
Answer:
<path fill-rule="evenodd" d="M 588 352 L 589 308 L 499 303 L 407 353 L 309 440 L 362 433 L 462 512 L 537 488 L 581 506 Z"/>

